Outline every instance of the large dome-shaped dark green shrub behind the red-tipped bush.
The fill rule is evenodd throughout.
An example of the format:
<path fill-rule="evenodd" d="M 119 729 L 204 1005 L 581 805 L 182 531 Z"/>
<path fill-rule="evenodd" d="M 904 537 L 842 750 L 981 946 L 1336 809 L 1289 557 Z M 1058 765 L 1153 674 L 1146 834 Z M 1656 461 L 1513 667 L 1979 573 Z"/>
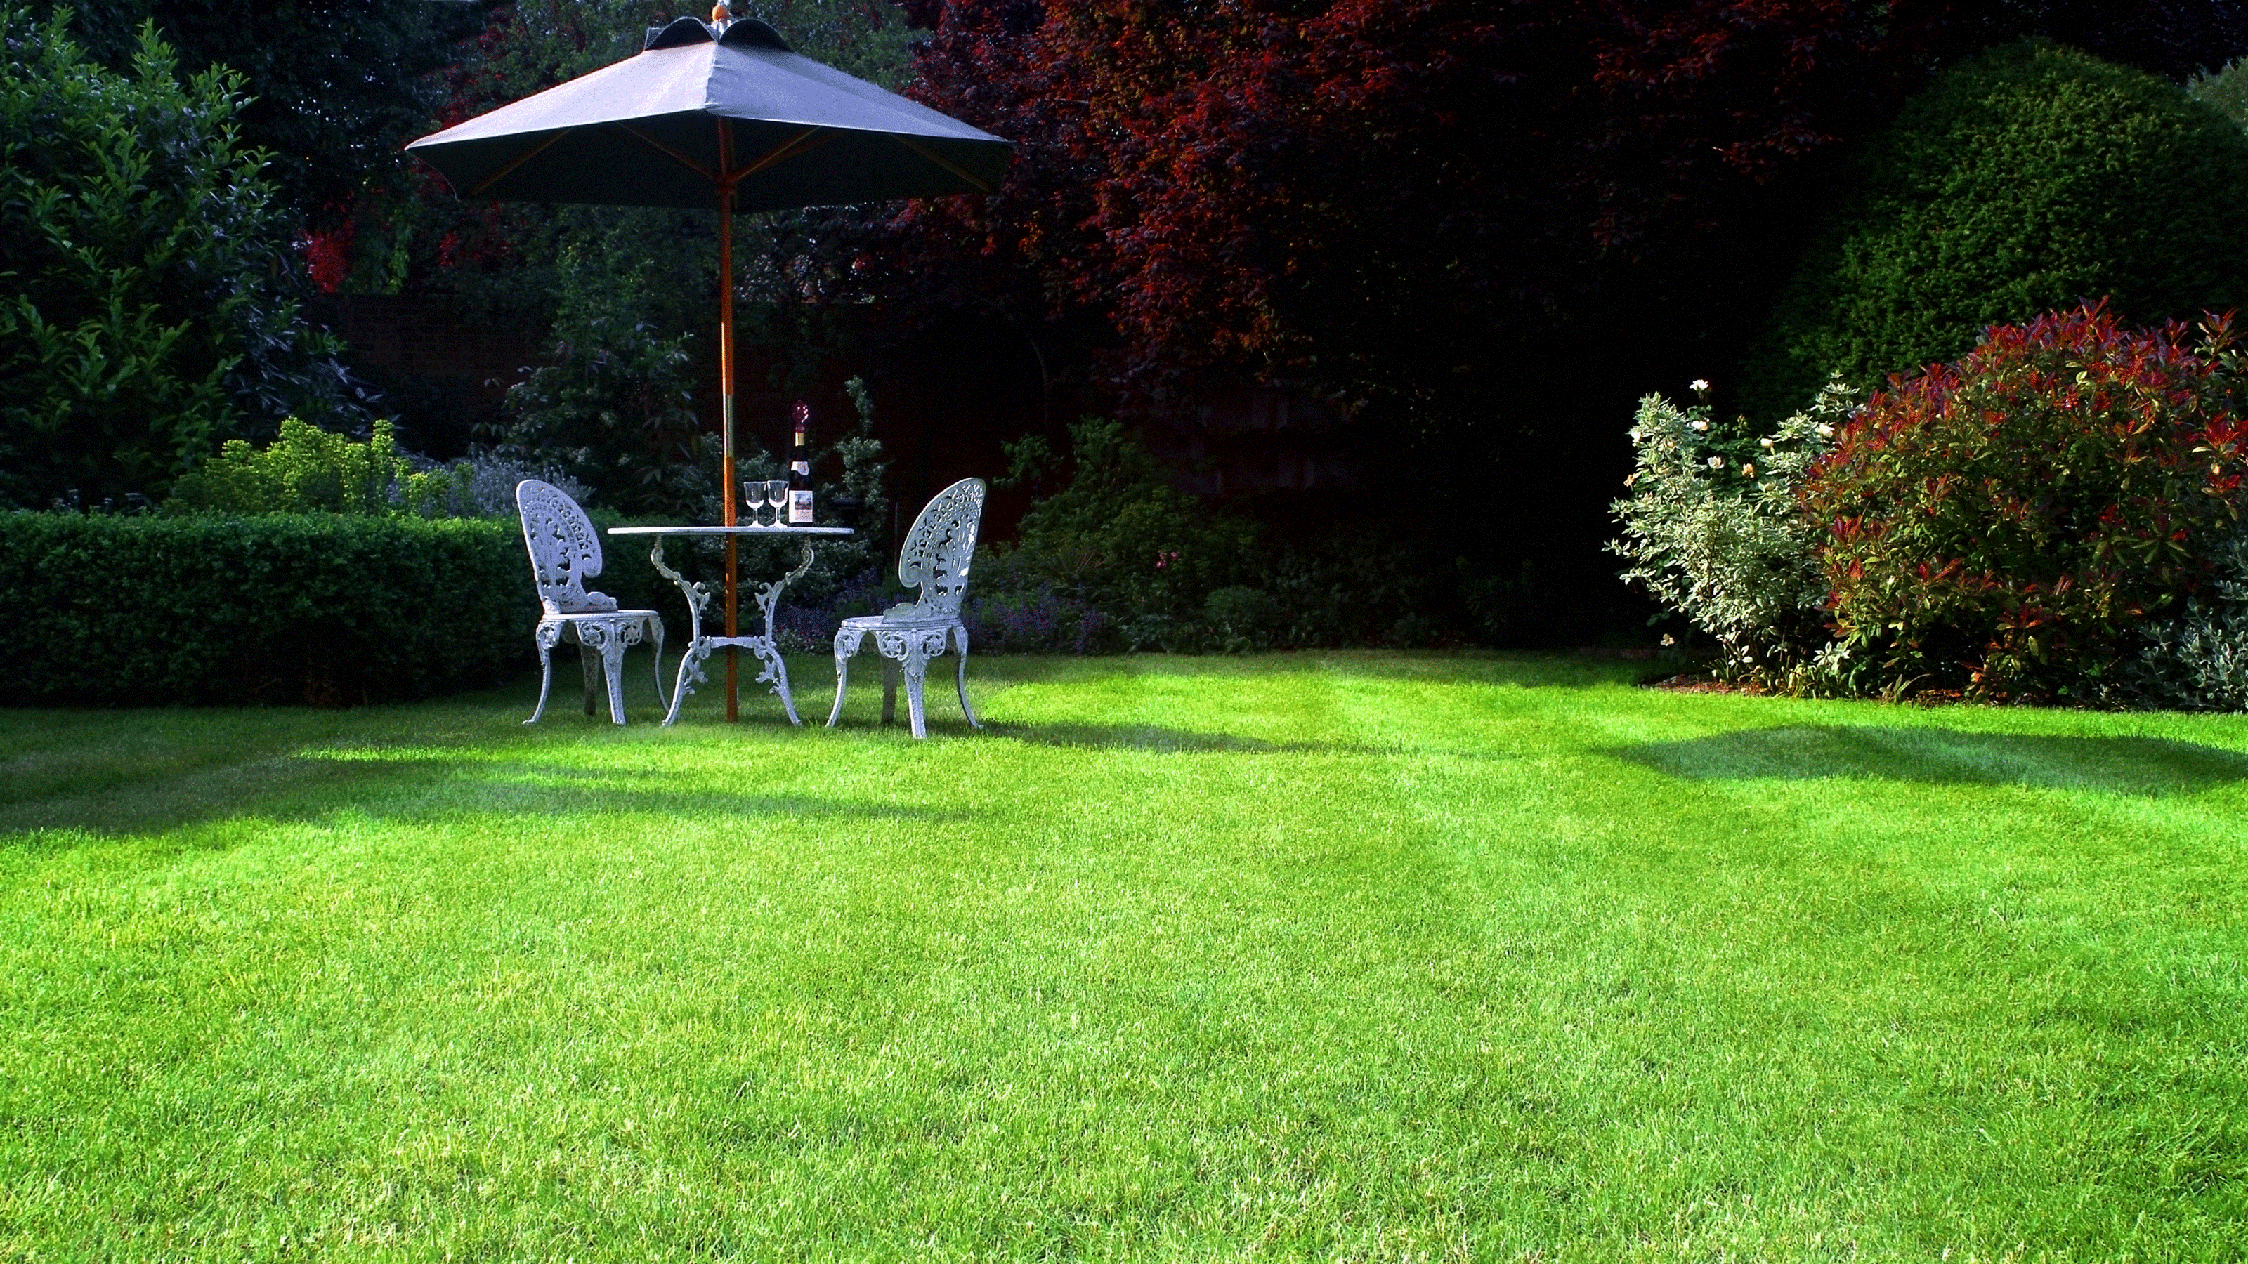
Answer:
<path fill-rule="evenodd" d="M 1947 70 L 1897 115 L 1780 297 L 1742 405 L 1956 360 L 1989 324 L 2111 297 L 2133 322 L 2248 301 L 2248 133 L 2048 43 Z"/>

